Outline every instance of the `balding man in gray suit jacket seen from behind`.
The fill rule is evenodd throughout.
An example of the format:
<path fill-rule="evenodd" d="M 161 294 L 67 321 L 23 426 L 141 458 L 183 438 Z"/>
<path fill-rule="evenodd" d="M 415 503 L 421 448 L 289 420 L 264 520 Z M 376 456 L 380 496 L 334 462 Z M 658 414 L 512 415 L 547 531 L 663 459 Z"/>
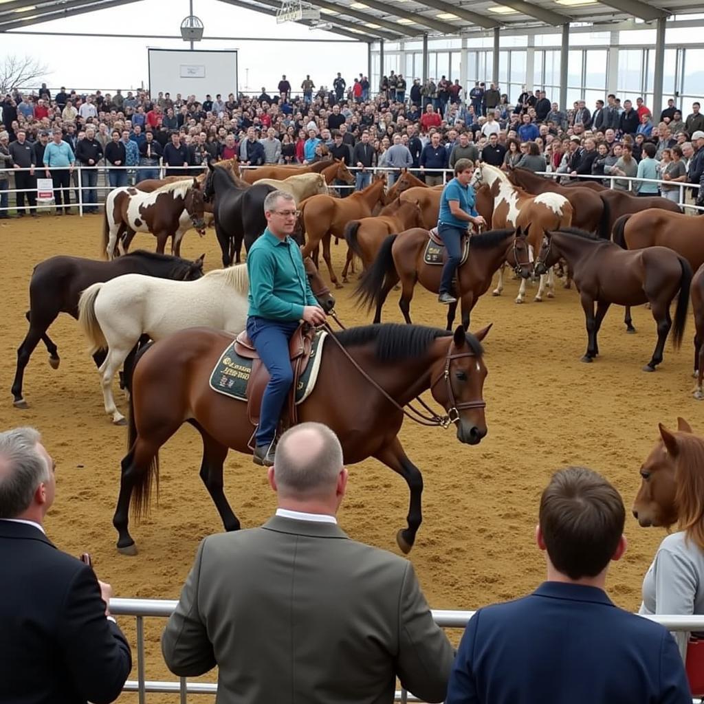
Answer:
<path fill-rule="evenodd" d="M 396 677 L 446 694 L 453 648 L 407 560 L 348 538 L 335 514 L 347 470 L 334 433 L 284 433 L 260 528 L 209 536 L 162 636 L 169 669 L 218 666 L 218 704 L 389 704 Z"/>

